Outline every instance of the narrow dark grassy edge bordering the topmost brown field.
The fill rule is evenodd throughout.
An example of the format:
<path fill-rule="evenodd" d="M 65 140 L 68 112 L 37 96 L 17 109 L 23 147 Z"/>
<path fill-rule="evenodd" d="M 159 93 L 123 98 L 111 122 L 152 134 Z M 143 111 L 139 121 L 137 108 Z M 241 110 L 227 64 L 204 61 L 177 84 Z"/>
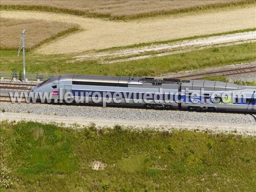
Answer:
<path fill-rule="evenodd" d="M 26 10 L 26 11 L 43 11 L 43 12 L 54 12 L 54 13 L 64 13 L 70 15 L 78 15 L 84 17 L 96 17 L 96 18 L 107 18 L 109 20 L 131 20 L 131 19 L 138 19 L 143 17 L 155 17 L 159 15 L 174 15 L 180 13 L 187 13 L 187 12 L 198 12 L 204 10 L 211 10 L 211 9 L 226 9 L 226 8 L 233 8 L 237 6 L 244 6 L 255 4 L 255 0 L 246 0 L 246 1 L 237 1 L 237 2 L 226 2 L 226 3 L 215 3 L 210 5 L 204 6 L 194 6 L 188 7 L 183 9 L 172 9 L 167 11 L 154 11 L 154 12 L 146 12 L 136 15 L 111 15 L 111 14 L 103 14 L 103 13 L 96 13 L 96 12 L 87 12 L 82 10 L 76 9 L 66 9 L 61 7 L 52 7 L 52 6 L 36 6 L 36 5 L 1 5 L 0 10 Z"/>

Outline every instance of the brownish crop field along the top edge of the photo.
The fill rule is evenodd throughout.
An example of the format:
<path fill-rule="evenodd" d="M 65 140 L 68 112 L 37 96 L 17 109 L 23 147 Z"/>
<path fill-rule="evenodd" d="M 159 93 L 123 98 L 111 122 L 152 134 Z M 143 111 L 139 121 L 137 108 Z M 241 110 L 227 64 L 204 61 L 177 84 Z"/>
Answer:
<path fill-rule="evenodd" d="M 255 0 L 103 0 L 103 1 L 65 1 L 61 0 L 1 0 L 1 9 L 35 10 L 86 17 L 106 17 L 111 20 L 134 19 L 155 15 L 169 15 L 180 12 L 190 12 L 202 9 L 212 9 L 227 6 L 237 6 L 255 3 Z"/>

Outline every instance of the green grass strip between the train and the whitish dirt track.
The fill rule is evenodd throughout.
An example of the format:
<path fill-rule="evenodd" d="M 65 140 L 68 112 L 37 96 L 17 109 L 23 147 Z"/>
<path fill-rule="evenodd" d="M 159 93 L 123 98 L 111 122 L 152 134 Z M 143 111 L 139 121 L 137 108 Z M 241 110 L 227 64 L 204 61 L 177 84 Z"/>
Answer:
<path fill-rule="evenodd" d="M 113 76 L 154 76 L 183 70 L 199 70 L 256 60 L 256 43 L 196 50 L 175 55 L 145 58 L 114 64 L 98 61 L 74 60 L 72 55 L 39 55 L 26 53 L 26 71 L 32 73 L 76 73 Z M 17 52 L 0 50 L 0 68 L 3 71 L 23 71 L 22 57 Z"/>

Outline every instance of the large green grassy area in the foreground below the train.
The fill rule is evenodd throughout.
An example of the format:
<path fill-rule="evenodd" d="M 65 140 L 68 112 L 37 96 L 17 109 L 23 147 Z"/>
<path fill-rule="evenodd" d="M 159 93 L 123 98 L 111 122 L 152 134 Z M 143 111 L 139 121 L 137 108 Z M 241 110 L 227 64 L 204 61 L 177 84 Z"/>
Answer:
<path fill-rule="evenodd" d="M 1 122 L 0 134 L 1 178 L 9 182 L 1 191 L 256 189 L 255 137 L 23 121 Z M 93 170 L 94 161 L 105 168 Z"/>

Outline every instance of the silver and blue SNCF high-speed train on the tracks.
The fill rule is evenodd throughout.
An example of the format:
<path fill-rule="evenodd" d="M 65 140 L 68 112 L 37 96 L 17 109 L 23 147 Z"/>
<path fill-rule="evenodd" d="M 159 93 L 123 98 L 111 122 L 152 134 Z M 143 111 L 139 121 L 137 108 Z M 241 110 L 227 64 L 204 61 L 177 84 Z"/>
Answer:
<path fill-rule="evenodd" d="M 66 74 L 30 92 L 47 93 L 51 102 L 79 98 L 90 105 L 256 112 L 256 87 L 220 81 Z"/>

